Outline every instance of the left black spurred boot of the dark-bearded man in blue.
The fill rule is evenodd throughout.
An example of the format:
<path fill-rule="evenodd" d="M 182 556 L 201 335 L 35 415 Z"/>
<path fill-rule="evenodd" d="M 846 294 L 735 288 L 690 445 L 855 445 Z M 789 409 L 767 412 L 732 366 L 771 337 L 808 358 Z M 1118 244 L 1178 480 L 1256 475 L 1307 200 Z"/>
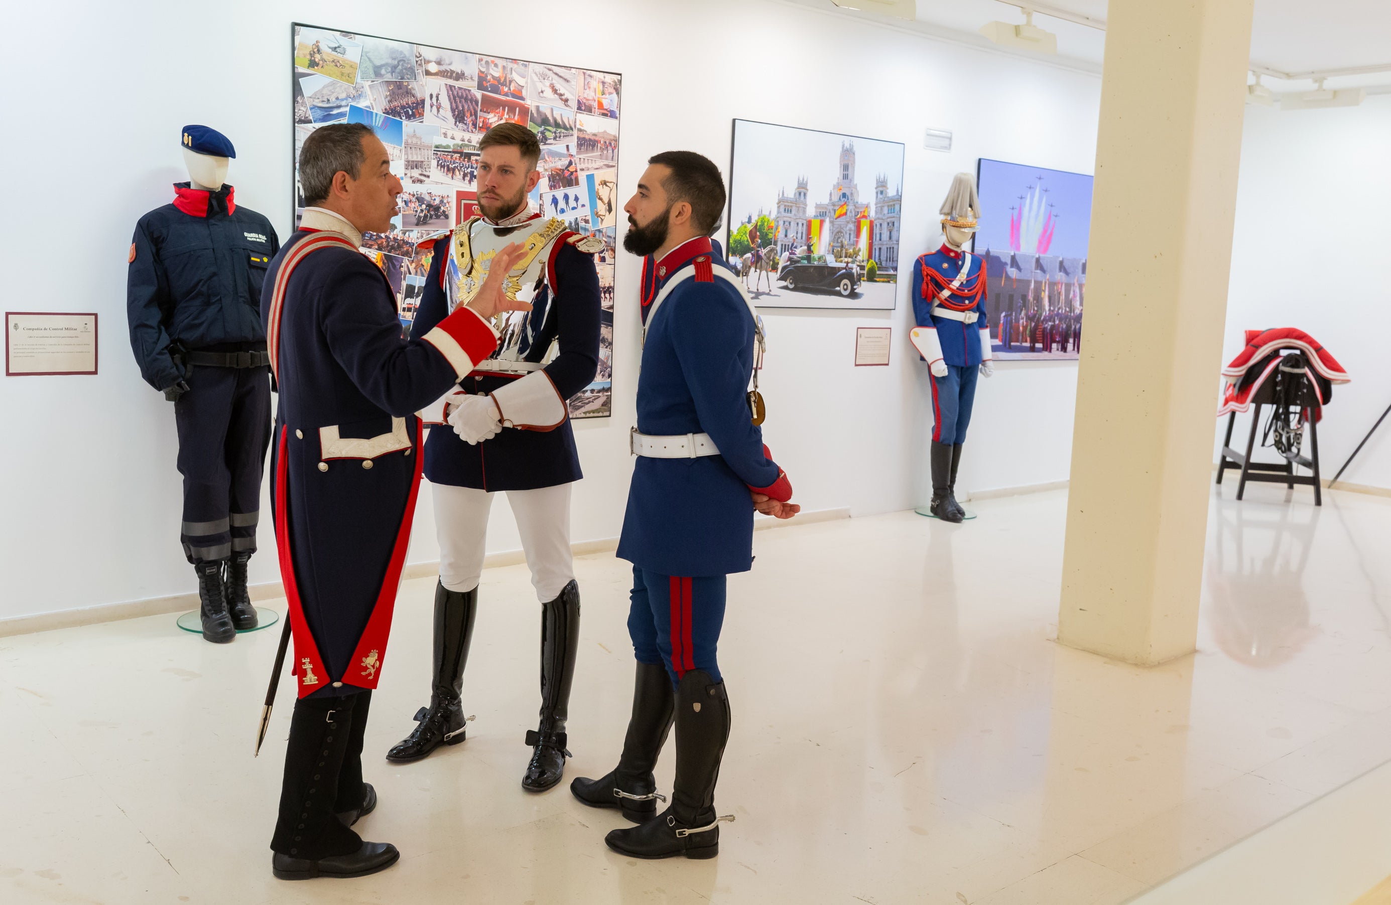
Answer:
<path fill-rule="evenodd" d="M 618 766 L 602 778 L 576 778 L 570 783 L 570 794 L 591 808 L 618 808 L 633 823 L 657 816 L 657 802 L 666 801 L 666 795 L 657 794 L 652 770 L 672 728 L 675 706 L 676 694 L 666 667 L 638 663 L 633 680 L 633 716 L 627 720 Z"/>

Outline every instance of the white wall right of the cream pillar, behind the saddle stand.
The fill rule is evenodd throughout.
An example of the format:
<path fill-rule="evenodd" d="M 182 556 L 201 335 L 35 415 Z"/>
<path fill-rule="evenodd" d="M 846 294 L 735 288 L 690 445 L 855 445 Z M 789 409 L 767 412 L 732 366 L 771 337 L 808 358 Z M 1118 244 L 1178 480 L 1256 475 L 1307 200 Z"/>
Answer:
<path fill-rule="evenodd" d="M 1271 327 L 1298 327 L 1338 359 L 1352 382 L 1334 388 L 1319 424 L 1326 478 L 1391 405 L 1388 158 L 1391 96 L 1334 110 L 1246 107 L 1223 361 L 1241 352 L 1246 329 Z M 1249 414 L 1237 416 L 1238 449 L 1249 425 Z M 1391 418 L 1342 480 L 1391 488 L 1388 453 Z M 1257 459 L 1278 456 L 1267 449 Z"/>

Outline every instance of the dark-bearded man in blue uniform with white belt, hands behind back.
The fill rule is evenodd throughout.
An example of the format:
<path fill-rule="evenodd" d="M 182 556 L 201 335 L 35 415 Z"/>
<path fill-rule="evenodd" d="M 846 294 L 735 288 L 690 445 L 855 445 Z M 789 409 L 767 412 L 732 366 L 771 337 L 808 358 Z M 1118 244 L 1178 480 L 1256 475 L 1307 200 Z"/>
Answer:
<path fill-rule="evenodd" d="M 627 619 L 637 658 L 633 715 L 618 767 L 570 791 L 640 823 L 609 848 L 634 858 L 719 852 L 715 781 L 729 738 L 716 663 L 725 581 L 753 567 L 755 507 L 790 519 L 791 484 L 751 418 L 748 380 L 762 327 L 708 238 L 725 209 L 719 168 L 693 152 L 648 160 L 623 207 L 623 247 L 647 256 L 638 456 L 618 555 L 633 563 Z M 675 720 L 676 783 L 657 812 L 652 767 Z"/>

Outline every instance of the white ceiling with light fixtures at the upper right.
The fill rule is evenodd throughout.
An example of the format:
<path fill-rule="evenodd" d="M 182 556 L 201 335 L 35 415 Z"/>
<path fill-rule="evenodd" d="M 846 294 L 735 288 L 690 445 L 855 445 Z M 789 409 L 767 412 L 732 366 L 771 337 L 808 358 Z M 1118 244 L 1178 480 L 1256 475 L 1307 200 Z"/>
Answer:
<path fill-rule="evenodd" d="M 791 0 L 833 8 L 830 0 Z M 1164 1 L 1164 0 L 1152 0 Z M 1104 22 L 1107 0 L 1040 0 L 1061 13 Z M 917 0 L 918 21 L 867 15 L 940 38 L 985 43 L 979 28 L 989 21 L 1022 22 L 1017 6 L 999 0 Z M 1036 13 L 1034 24 L 1057 35 L 1057 57 L 1064 65 L 1100 71 L 1106 32 Z M 1035 56 L 1020 51 L 1024 56 Z M 1251 35 L 1252 65 L 1280 72 L 1309 72 L 1348 67 L 1391 65 L 1391 0 L 1256 0 Z M 1266 82 L 1274 90 L 1303 90 L 1310 81 Z M 1391 85 L 1391 72 L 1330 78 L 1328 88 Z"/>

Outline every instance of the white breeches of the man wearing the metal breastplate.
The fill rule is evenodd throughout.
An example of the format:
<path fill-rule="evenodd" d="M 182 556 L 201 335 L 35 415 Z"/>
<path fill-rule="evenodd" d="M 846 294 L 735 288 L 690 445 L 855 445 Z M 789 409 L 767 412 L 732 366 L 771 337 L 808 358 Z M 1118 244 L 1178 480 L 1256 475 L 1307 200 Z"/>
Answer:
<path fill-rule="evenodd" d="M 449 591 L 473 591 L 483 576 L 488 510 L 497 494 L 472 487 L 431 484 L 435 534 L 440 538 L 440 582 Z M 534 491 L 502 491 L 522 535 L 538 601 L 554 601 L 574 578 L 570 556 L 570 485 Z"/>

